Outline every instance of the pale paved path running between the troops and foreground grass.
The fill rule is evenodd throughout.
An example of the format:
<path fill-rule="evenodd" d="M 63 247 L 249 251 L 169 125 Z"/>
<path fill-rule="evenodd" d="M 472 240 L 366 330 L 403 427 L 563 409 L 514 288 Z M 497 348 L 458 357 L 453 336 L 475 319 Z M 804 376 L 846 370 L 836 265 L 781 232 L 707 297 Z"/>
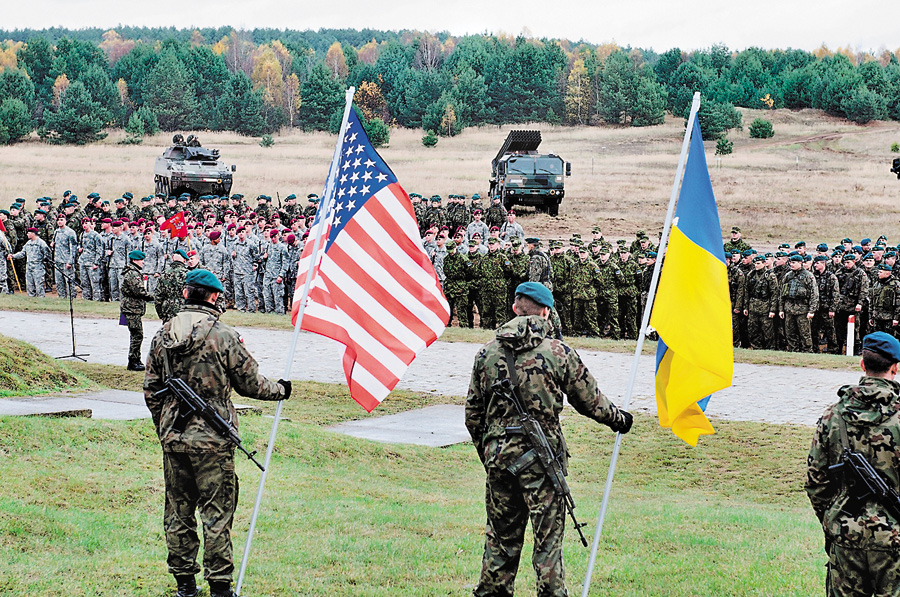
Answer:
<path fill-rule="evenodd" d="M 159 328 L 158 321 L 144 322 L 144 351 Z M 281 377 L 291 332 L 238 328 L 247 348 L 260 363 L 263 374 Z M 69 318 L 55 313 L 0 311 L 0 333 L 30 342 L 51 356 L 72 350 Z M 118 320 L 76 319 L 79 353 L 89 353 L 88 362 L 125 366 L 128 330 Z M 341 367 L 343 346 L 301 332 L 291 378 L 345 383 Z M 418 392 L 464 396 L 478 345 L 435 342 L 407 371 L 399 388 Z M 579 350 L 597 377 L 600 388 L 617 404 L 624 400 L 632 355 Z M 653 357 L 641 357 L 632 410 L 656 412 L 653 398 Z M 718 392 L 709 402 L 707 414 L 736 421 L 767 421 L 815 425 L 824 408 L 834 402 L 837 389 L 854 383 L 859 376 L 847 371 L 799 367 L 736 364 L 734 385 Z M 390 400 L 390 397 L 388 397 Z"/>

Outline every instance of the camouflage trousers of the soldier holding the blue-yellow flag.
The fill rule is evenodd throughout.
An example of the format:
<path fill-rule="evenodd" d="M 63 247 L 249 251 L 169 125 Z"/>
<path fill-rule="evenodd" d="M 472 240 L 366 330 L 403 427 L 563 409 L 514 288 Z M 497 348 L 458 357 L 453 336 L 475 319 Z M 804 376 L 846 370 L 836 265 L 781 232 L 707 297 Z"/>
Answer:
<path fill-rule="evenodd" d="M 485 507 L 484 557 L 473 595 L 513 595 L 529 518 L 537 595 L 567 595 L 562 560 L 565 508 L 543 470 L 532 465 L 516 477 L 505 470 L 488 469 Z"/>

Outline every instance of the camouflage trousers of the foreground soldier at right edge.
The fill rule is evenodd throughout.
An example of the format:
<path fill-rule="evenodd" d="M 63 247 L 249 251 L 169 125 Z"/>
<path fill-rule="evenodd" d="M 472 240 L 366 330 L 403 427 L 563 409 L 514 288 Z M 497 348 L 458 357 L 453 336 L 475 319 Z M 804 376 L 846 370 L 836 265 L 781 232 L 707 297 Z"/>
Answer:
<path fill-rule="evenodd" d="M 829 597 L 900 595 L 900 553 L 832 544 L 825 594 Z"/>

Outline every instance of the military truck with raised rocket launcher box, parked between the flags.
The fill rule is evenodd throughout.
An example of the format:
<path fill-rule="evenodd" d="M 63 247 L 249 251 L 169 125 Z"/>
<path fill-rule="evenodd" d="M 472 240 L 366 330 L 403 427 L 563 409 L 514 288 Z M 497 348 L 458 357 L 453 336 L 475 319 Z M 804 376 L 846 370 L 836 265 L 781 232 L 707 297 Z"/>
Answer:
<path fill-rule="evenodd" d="M 572 164 L 552 153 L 538 153 L 540 144 L 541 131 L 509 132 L 491 162 L 490 196 L 499 195 L 506 209 L 533 205 L 557 216 Z"/>

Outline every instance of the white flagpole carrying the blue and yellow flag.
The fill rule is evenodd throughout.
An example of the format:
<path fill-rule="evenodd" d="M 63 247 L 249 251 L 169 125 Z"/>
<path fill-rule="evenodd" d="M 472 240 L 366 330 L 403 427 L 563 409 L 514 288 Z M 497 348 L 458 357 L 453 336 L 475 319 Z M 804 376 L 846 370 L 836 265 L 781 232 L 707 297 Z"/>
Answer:
<path fill-rule="evenodd" d="M 666 221 L 663 224 L 663 235 L 659 240 L 659 249 L 656 264 L 653 267 L 653 278 L 650 280 L 650 291 L 647 293 L 647 304 L 644 306 L 644 315 L 641 318 L 641 331 L 638 334 L 637 346 L 634 349 L 634 359 L 631 363 L 631 374 L 628 377 L 628 388 L 625 390 L 625 402 L 623 410 L 628 410 L 631 402 L 631 394 L 634 391 L 634 381 L 637 377 L 637 369 L 641 360 L 641 350 L 644 347 L 644 338 L 647 326 L 650 323 L 650 312 L 653 310 L 653 300 L 656 298 L 656 285 L 659 282 L 659 272 L 663 262 L 663 251 L 669 242 L 669 231 L 672 227 L 672 215 L 675 213 L 675 200 L 678 198 L 678 190 L 681 187 L 681 178 L 684 175 L 684 165 L 687 159 L 688 149 L 691 146 L 691 134 L 694 130 L 694 117 L 700 109 L 700 92 L 694 93 L 694 101 L 691 104 L 691 115 L 688 117 L 687 130 L 684 132 L 684 141 L 681 144 L 681 156 L 678 158 L 678 168 L 675 171 L 675 182 L 672 183 L 672 194 L 669 196 L 669 209 L 666 212 Z M 619 447 L 622 445 L 622 434 L 616 434 L 616 442 L 613 444 L 612 460 L 609 463 L 609 472 L 606 475 L 606 487 L 603 489 L 603 502 L 600 505 L 600 515 L 597 517 L 597 527 L 594 529 L 594 540 L 591 545 L 591 557 L 588 561 L 587 573 L 581 588 L 581 597 L 588 597 L 591 587 L 591 575 L 594 572 L 594 564 L 597 560 L 597 549 L 600 546 L 600 534 L 603 532 L 603 520 L 606 518 L 606 508 L 609 504 L 609 493 L 612 490 L 613 475 L 616 472 L 616 462 L 619 459 Z"/>

